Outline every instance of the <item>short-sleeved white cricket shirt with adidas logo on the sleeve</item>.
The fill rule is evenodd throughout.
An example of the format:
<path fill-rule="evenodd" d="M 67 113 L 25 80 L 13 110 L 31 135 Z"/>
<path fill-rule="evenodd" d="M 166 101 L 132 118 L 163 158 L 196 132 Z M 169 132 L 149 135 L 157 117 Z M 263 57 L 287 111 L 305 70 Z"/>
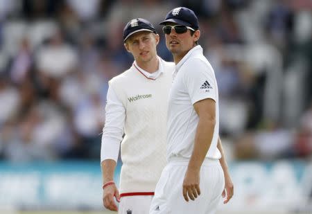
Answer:
<path fill-rule="evenodd" d="M 206 158 L 220 159 L 218 150 L 219 107 L 218 85 L 214 69 L 202 54 L 202 47 L 195 46 L 175 66 L 173 85 L 169 95 L 167 118 L 167 159 L 190 158 L 193 152 L 198 114 L 193 104 L 211 98 L 216 101 L 216 125 Z"/>

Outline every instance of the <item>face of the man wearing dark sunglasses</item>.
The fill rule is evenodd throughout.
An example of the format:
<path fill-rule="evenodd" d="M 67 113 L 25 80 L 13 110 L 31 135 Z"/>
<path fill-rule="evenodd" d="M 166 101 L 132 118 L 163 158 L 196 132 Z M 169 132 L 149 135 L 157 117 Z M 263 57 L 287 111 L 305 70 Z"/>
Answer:
<path fill-rule="evenodd" d="M 180 25 L 167 23 L 166 26 Z M 191 48 L 193 48 L 193 46 L 195 46 L 196 41 L 199 39 L 199 35 L 199 30 L 196 30 L 195 33 L 191 35 L 189 28 L 187 28 L 185 33 L 180 33 L 178 30 L 176 32 L 175 28 L 171 28 L 171 33 L 165 33 L 166 46 L 168 50 L 173 53 L 173 55 L 185 55 L 189 50 L 191 50 Z"/>

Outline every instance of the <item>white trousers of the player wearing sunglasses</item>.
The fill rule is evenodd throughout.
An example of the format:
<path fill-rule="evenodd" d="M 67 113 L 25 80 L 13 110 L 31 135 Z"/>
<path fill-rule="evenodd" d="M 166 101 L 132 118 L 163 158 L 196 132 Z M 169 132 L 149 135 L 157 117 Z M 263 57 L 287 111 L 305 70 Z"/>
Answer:
<path fill-rule="evenodd" d="M 169 161 L 155 189 L 150 214 L 213 214 L 221 201 L 225 186 L 223 170 L 218 160 L 207 159 L 200 169 L 200 195 L 185 201 L 182 184 L 189 159 Z M 133 213 L 135 214 L 135 213 Z"/>

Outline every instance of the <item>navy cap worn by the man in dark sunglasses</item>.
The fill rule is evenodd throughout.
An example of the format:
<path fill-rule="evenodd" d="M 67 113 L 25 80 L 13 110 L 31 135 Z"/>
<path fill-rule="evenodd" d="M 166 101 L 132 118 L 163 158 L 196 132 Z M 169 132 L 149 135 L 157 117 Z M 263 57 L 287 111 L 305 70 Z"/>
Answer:
<path fill-rule="evenodd" d="M 183 26 L 189 26 L 194 30 L 198 30 L 198 18 L 195 12 L 189 8 L 179 7 L 174 8 L 166 15 L 166 19 L 160 22 L 160 25 L 165 25 L 167 22 L 173 22 Z"/>

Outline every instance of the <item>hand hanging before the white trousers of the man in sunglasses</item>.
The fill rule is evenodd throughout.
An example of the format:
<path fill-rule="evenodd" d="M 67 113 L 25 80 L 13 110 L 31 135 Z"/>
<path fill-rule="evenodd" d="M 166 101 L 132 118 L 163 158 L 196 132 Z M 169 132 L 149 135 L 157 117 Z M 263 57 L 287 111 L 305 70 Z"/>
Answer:
<path fill-rule="evenodd" d="M 183 197 L 189 202 L 200 195 L 200 170 L 187 170 L 183 181 Z"/>

